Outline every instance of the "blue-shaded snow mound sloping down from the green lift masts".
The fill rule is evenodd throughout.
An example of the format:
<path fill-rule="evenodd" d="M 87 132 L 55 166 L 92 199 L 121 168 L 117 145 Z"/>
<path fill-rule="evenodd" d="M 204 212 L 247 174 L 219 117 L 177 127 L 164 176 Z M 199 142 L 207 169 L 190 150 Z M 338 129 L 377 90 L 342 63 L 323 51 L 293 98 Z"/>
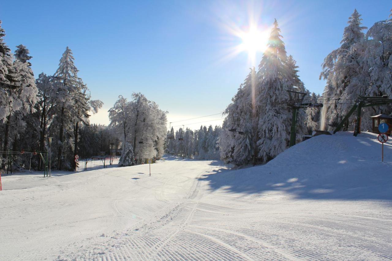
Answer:
<path fill-rule="evenodd" d="M 309 199 L 392 199 L 392 142 L 377 134 L 319 135 L 285 150 L 269 163 L 203 176 L 212 190 L 262 193 L 281 190 Z"/>

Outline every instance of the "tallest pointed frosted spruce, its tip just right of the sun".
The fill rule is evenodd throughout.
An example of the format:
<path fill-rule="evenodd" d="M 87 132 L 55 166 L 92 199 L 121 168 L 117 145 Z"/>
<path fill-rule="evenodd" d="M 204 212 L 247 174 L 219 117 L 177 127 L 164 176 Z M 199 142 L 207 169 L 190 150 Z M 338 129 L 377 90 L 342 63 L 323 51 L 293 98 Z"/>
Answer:
<path fill-rule="evenodd" d="M 289 141 L 291 110 L 287 107 L 289 99 L 288 78 L 291 71 L 287 67 L 287 55 L 281 40 L 278 22 L 275 19 L 258 71 L 257 97 L 260 103 L 260 120 L 258 121 L 258 158 L 269 161 L 286 149 Z"/>

